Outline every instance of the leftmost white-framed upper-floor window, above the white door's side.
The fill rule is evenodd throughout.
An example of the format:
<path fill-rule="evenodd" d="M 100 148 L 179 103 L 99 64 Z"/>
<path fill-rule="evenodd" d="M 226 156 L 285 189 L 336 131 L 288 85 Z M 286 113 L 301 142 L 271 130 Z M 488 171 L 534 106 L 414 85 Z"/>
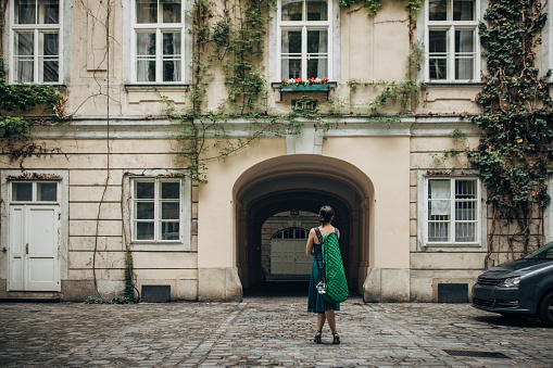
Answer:
<path fill-rule="evenodd" d="M 60 84 L 62 0 L 14 0 L 12 81 Z"/>

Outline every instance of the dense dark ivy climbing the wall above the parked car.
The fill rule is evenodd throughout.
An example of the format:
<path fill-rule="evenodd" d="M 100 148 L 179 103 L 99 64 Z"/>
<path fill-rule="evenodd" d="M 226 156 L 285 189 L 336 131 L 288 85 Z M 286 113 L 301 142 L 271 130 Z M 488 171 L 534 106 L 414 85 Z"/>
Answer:
<path fill-rule="evenodd" d="M 545 18 L 538 0 L 491 0 L 487 24 L 479 26 L 488 74 L 477 97 L 483 113 L 470 117 L 482 135 L 468 158 L 481 175 L 492 208 L 487 267 L 493 265 L 492 252 L 500 250 L 497 225 L 515 226 L 508 250 L 503 250 L 513 256 L 528 253 L 532 237 L 537 244 L 541 241 L 553 158 L 553 103 L 535 65 Z"/>

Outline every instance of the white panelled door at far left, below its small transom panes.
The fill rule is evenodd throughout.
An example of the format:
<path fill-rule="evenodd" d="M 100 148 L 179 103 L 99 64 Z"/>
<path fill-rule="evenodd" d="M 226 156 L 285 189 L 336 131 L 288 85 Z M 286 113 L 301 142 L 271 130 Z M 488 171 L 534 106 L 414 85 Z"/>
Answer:
<path fill-rule="evenodd" d="M 10 206 L 10 291 L 61 291 L 59 207 Z"/>

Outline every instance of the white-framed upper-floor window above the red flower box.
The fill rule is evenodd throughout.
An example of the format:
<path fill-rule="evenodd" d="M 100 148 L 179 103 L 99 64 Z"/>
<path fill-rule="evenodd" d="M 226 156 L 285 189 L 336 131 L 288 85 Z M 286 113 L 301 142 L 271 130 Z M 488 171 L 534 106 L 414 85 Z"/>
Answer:
<path fill-rule="evenodd" d="M 279 0 L 279 74 L 282 79 L 331 79 L 331 0 Z"/>

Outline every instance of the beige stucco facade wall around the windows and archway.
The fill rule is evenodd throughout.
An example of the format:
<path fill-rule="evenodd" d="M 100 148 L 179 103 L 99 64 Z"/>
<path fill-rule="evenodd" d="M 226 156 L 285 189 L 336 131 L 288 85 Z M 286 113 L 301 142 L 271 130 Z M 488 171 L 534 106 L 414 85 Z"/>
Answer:
<path fill-rule="evenodd" d="M 92 0 L 85 3 L 97 5 Z M 64 290 L 71 295 L 70 299 L 75 300 L 93 291 L 90 284 L 92 255 L 97 246 L 97 218 L 100 221 L 97 277 L 106 295 L 122 291 L 126 242 L 122 212 L 125 173 L 171 170 L 185 166 L 175 155 L 178 127 L 165 119 L 167 106 L 161 96 L 167 96 L 168 100 L 177 103 L 178 109 L 183 109 L 187 106 L 188 88 L 133 88 L 127 85 L 125 73 L 128 68 L 126 63 L 130 60 L 127 54 L 129 29 L 125 27 L 129 26 L 128 9 L 121 1 L 111 3 L 110 52 L 102 53 L 108 47 L 104 34 L 90 31 L 92 25 L 98 26 L 95 16 L 104 16 L 101 7 L 98 7 L 98 13 L 90 14 L 81 2 L 73 1 L 73 7 L 68 7 L 70 2 L 66 1 L 72 18 L 67 31 L 70 39 L 65 40 L 70 53 L 66 63 L 66 113 L 74 118 L 67 125 L 42 127 L 35 134 L 38 144 L 54 151 L 40 157 L 26 157 L 23 162 L 10 160 L 7 153 L 0 155 L 2 169 L 23 166 L 25 169 L 68 172 L 68 251 L 63 255 L 67 257 Z M 128 1 L 125 3 L 128 4 Z M 350 79 L 406 78 L 410 24 L 404 5 L 402 1 L 385 1 L 375 17 L 368 17 L 363 10 L 355 13 L 340 11 L 340 51 L 337 58 L 340 78 L 337 89 L 330 92 L 330 102 L 339 104 L 344 115 L 321 116 L 324 122 L 338 122 L 338 132 L 325 132 L 327 139 L 323 141 L 319 156 L 331 161 L 332 165 L 342 162 L 348 165 L 344 169 L 350 174 L 355 168 L 365 176 L 360 182 L 366 183 L 365 189 L 370 193 L 365 203 L 369 214 L 366 233 L 368 245 L 364 250 L 368 252 L 368 263 L 362 266 L 360 284 L 366 284 L 366 300 L 435 301 L 438 283 L 469 283 L 481 270 L 485 253 L 482 250 L 431 252 L 418 246 L 417 173 L 465 167 L 464 160 L 448 158 L 441 162 L 436 156 L 444 150 L 464 148 L 450 137 L 453 129 L 467 129 L 472 148 L 476 147 L 479 132 L 472 130 L 468 124 L 460 123 L 456 117 L 444 122 L 440 114 L 478 113 L 475 98 L 480 87 L 427 86 L 413 111 L 418 116 L 413 117 L 414 123 L 403 126 L 402 135 L 394 132 L 400 128 L 393 124 L 390 128 L 363 117 L 379 89 L 357 87 L 352 92 L 347 83 Z M 298 94 L 287 93 L 279 101 L 278 91 L 269 85 L 279 79 L 269 75 L 271 63 L 275 62 L 269 52 L 272 37 L 274 35 L 268 33 L 264 58 L 269 92 L 267 109 L 287 114 L 290 100 L 298 98 Z M 9 42 L 4 41 L 3 45 L 8 47 Z M 209 83 L 205 107 L 216 107 L 226 98 L 221 65 L 214 63 L 212 72 L 213 75 L 205 79 Z M 317 98 L 319 105 L 327 101 L 325 93 L 312 97 Z M 323 112 L 325 109 L 323 106 Z M 384 110 L 398 111 L 398 105 Z M 87 116 L 89 119 L 85 118 Z M 356 128 L 349 129 L 344 124 L 351 126 L 360 119 L 364 120 Z M 309 120 L 305 126 L 317 125 L 321 120 Z M 375 128 L 377 124 L 382 125 L 378 130 Z M 109 141 L 108 131 L 111 134 Z M 190 251 L 135 251 L 138 287 L 171 284 L 173 299 L 230 300 L 240 296 L 240 280 L 236 274 L 239 246 L 236 243 L 236 186 L 243 185 L 242 176 L 252 167 L 260 165 L 267 169 L 264 165 L 266 161 L 293 161 L 293 155 L 288 155 L 287 149 L 285 138 L 263 138 L 224 160 L 211 161 L 209 182 L 192 188 Z M 108 166 L 110 180 L 98 217 Z M 2 211 L 5 216 L 5 205 Z M 0 254 L 0 264 L 7 264 L 5 255 Z"/>

